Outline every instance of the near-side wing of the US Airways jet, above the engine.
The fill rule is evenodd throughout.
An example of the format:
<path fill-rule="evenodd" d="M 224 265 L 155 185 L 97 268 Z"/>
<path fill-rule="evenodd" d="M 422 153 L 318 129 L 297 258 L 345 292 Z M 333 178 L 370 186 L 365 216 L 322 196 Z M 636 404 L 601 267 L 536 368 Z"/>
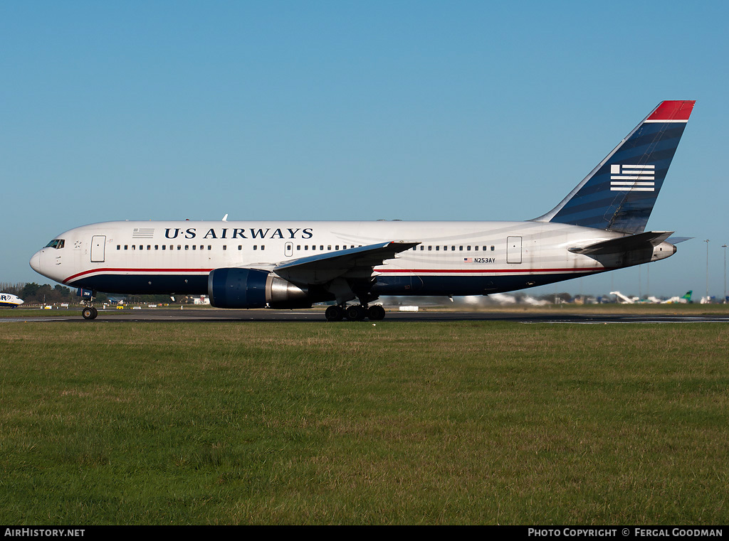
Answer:
<path fill-rule="evenodd" d="M 410 250 L 420 242 L 393 240 L 348 250 L 319 253 L 293 261 L 286 261 L 273 268 L 278 276 L 298 284 L 323 284 L 338 277 L 369 278 L 375 266 L 387 259 Z"/>

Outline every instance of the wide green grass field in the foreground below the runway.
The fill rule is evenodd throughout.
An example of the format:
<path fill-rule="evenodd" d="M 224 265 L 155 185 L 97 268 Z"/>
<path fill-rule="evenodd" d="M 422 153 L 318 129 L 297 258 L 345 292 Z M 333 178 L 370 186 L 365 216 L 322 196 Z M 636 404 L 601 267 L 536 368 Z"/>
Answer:
<path fill-rule="evenodd" d="M 726 524 L 729 328 L 2 323 L 0 524 Z"/>

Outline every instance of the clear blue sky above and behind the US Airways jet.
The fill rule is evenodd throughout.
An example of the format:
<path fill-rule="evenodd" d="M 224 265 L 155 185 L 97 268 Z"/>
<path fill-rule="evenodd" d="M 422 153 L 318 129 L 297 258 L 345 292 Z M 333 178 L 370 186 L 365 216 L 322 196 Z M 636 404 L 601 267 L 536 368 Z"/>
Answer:
<path fill-rule="evenodd" d="M 521 220 L 664 99 L 697 100 L 666 261 L 537 293 L 720 296 L 729 4 L 0 3 L 0 282 L 119 219 Z"/>

